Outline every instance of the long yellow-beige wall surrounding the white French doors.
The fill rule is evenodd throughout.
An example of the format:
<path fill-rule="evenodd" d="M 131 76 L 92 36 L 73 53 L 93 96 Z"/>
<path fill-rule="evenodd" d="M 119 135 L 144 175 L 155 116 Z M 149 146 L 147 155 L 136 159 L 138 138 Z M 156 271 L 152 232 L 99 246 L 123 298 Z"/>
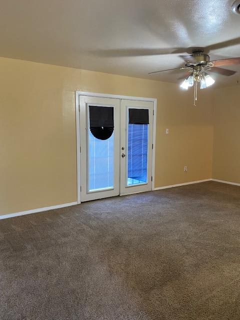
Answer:
<path fill-rule="evenodd" d="M 0 70 L 0 214 L 76 200 L 75 90 L 157 98 L 155 187 L 211 177 L 208 89 L 193 108 L 171 83 L 8 58 Z"/>

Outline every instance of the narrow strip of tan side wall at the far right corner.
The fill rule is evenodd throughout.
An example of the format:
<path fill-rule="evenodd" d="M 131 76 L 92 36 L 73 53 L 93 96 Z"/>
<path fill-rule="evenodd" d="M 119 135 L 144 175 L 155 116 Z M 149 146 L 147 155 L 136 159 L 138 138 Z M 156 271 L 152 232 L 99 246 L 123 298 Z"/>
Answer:
<path fill-rule="evenodd" d="M 239 84 L 214 92 L 212 177 L 240 183 Z"/>

